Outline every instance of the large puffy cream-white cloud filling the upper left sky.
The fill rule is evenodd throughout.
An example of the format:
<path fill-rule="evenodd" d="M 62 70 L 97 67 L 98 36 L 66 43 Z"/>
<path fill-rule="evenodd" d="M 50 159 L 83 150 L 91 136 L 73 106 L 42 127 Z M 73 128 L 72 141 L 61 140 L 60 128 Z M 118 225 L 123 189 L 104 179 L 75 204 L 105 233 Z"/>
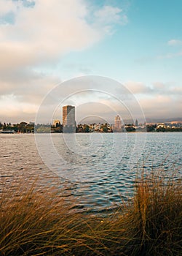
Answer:
<path fill-rule="evenodd" d="M 1 8 L 4 15 L 13 12 L 15 23 L 1 24 L 0 68 L 58 61 L 70 51 L 98 42 L 108 32 L 106 27 L 111 32 L 114 23 L 127 19 L 119 8 L 104 6 L 88 23 L 90 12 L 84 0 L 35 0 L 33 7 L 23 1 L 1 0 Z"/>

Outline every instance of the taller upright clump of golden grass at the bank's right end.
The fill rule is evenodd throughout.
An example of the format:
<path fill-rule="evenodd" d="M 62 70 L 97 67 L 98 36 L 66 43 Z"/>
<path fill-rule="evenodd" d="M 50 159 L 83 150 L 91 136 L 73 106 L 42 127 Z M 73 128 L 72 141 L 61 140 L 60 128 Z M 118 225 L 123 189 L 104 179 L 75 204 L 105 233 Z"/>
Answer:
<path fill-rule="evenodd" d="M 126 220 L 128 255 L 181 255 L 181 181 L 155 173 L 136 182 Z"/>

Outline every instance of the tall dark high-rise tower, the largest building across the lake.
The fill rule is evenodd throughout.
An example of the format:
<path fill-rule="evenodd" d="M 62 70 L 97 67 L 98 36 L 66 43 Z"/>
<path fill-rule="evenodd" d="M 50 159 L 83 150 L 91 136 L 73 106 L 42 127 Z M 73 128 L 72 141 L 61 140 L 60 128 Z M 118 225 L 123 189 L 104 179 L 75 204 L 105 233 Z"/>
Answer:
<path fill-rule="evenodd" d="M 63 132 L 75 131 L 75 107 L 71 105 L 63 106 Z"/>

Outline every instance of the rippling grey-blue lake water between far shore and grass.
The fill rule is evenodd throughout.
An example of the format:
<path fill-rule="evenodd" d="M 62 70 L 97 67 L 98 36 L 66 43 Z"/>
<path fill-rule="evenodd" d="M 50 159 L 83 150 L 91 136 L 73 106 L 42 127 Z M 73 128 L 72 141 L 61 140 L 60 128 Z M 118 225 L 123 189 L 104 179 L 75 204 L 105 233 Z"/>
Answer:
<path fill-rule="evenodd" d="M 105 211 L 133 195 L 144 169 L 181 175 L 182 133 L 0 135 L 1 190 L 59 177 L 78 208 Z"/>

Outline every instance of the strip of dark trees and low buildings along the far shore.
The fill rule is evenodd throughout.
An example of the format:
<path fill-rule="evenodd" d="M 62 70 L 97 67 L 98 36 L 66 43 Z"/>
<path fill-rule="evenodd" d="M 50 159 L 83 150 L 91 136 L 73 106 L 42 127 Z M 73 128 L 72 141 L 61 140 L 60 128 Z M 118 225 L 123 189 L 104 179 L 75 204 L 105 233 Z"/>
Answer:
<path fill-rule="evenodd" d="M 69 128 L 69 127 L 68 127 Z M 106 124 L 77 124 L 72 132 L 89 133 L 89 132 L 182 132 L 182 121 L 161 123 L 161 124 L 124 124 L 121 129 L 116 130 L 108 123 Z M 29 124 L 22 121 L 20 124 L 2 124 L 0 122 L 0 133 L 62 133 L 63 125 L 60 121 L 56 124 Z"/>

